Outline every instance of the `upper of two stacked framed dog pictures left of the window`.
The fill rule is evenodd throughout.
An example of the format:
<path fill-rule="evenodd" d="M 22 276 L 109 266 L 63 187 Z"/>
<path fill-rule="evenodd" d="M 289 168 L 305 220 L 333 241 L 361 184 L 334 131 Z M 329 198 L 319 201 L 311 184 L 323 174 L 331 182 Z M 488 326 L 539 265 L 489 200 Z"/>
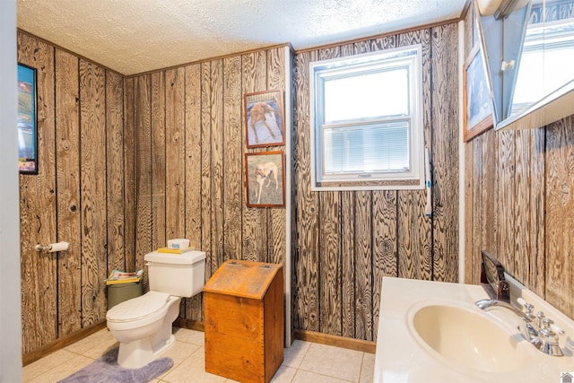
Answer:
<path fill-rule="evenodd" d="M 243 109 L 248 148 L 285 144 L 282 91 L 247 93 Z"/>

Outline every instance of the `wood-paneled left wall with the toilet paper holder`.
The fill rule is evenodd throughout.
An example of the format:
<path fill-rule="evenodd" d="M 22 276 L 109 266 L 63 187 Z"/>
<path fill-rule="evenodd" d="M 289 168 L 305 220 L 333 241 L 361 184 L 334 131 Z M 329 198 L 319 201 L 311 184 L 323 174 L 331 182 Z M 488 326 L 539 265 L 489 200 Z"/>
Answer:
<path fill-rule="evenodd" d="M 37 69 L 39 174 L 22 175 L 22 352 L 106 315 L 103 280 L 125 261 L 123 77 L 18 33 L 18 61 Z M 132 153 L 133 154 L 133 153 Z M 132 175 L 133 177 L 133 175 Z M 37 253 L 65 240 L 68 251 Z"/>

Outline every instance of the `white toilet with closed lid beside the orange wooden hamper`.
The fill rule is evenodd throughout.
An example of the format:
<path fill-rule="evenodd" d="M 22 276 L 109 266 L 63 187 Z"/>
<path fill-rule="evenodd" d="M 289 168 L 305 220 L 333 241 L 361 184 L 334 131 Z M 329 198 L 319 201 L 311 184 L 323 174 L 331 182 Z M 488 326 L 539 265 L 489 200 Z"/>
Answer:
<path fill-rule="evenodd" d="M 205 253 L 153 251 L 145 257 L 150 291 L 109 309 L 109 331 L 119 342 L 117 364 L 139 369 L 175 343 L 171 325 L 181 298 L 201 292 L 205 283 Z"/>

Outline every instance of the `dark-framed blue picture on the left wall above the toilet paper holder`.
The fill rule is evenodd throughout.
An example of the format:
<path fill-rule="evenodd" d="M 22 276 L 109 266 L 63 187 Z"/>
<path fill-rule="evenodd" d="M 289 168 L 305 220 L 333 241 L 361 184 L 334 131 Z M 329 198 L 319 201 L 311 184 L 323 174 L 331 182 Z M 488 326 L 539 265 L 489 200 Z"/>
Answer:
<path fill-rule="evenodd" d="M 18 64 L 18 167 L 22 174 L 38 174 L 36 69 Z"/>

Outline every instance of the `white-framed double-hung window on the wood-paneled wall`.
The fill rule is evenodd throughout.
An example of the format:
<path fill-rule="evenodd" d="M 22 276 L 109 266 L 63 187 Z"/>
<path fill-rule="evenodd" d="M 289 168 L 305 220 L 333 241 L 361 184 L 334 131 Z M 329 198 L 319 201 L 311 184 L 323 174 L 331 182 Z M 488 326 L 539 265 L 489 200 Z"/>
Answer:
<path fill-rule="evenodd" d="M 424 187 L 421 46 L 310 65 L 311 188 Z"/>

